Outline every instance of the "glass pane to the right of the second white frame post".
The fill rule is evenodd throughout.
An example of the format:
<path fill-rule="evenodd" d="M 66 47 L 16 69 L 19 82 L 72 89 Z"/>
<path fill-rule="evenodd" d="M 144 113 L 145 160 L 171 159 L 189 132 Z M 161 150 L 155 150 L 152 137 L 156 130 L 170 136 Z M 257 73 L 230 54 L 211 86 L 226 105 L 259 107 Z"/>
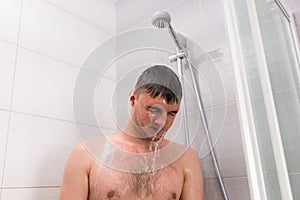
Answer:
<path fill-rule="evenodd" d="M 291 190 L 300 199 L 299 59 L 291 21 L 275 3 L 256 0 L 256 6 Z"/>

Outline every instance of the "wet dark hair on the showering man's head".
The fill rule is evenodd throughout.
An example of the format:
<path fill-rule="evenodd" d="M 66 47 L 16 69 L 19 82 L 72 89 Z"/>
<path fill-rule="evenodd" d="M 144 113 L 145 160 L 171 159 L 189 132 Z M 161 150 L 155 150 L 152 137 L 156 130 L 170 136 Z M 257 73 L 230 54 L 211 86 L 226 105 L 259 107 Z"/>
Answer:
<path fill-rule="evenodd" d="M 137 96 L 146 92 L 153 98 L 161 96 L 168 104 L 179 103 L 182 98 L 178 76 L 164 65 L 154 65 L 144 70 L 135 84 L 135 89 Z"/>

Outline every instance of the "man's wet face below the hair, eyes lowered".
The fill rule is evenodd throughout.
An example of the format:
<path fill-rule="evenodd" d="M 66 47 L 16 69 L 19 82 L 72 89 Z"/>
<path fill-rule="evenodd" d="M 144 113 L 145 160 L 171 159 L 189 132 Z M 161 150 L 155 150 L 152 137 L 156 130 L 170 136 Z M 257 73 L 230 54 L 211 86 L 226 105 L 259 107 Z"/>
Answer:
<path fill-rule="evenodd" d="M 131 100 L 132 101 L 132 100 Z M 153 98 L 149 93 L 135 95 L 132 103 L 132 120 L 139 137 L 159 140 L 171 127 L 179 110 L 178 103 L 167 104 L 161 96 Z"/>

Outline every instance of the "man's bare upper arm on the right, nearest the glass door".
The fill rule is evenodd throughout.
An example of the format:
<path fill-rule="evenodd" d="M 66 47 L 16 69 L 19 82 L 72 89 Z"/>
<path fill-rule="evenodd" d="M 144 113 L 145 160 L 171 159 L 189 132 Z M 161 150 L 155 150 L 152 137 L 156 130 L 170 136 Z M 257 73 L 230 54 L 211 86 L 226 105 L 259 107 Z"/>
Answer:
<path fill-rule="evenodd" d="M 203 174 L 197 153 L 189 148 L 186 152 L 182 200 L 203 200 Z"/>

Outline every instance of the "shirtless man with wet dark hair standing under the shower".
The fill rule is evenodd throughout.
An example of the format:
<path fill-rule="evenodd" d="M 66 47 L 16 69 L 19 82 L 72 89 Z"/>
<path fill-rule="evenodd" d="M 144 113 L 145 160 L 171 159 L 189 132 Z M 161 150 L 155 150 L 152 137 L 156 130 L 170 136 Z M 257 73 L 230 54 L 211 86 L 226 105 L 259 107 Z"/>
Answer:
<path fill-rule="evenodd" d="M 180 81 L 171 69 L 146 69 L 130 95 L 125 127 L 74 148 L 60 200 L 203 200 L 197 153 L 164 138 L 181 97 Z"/>

